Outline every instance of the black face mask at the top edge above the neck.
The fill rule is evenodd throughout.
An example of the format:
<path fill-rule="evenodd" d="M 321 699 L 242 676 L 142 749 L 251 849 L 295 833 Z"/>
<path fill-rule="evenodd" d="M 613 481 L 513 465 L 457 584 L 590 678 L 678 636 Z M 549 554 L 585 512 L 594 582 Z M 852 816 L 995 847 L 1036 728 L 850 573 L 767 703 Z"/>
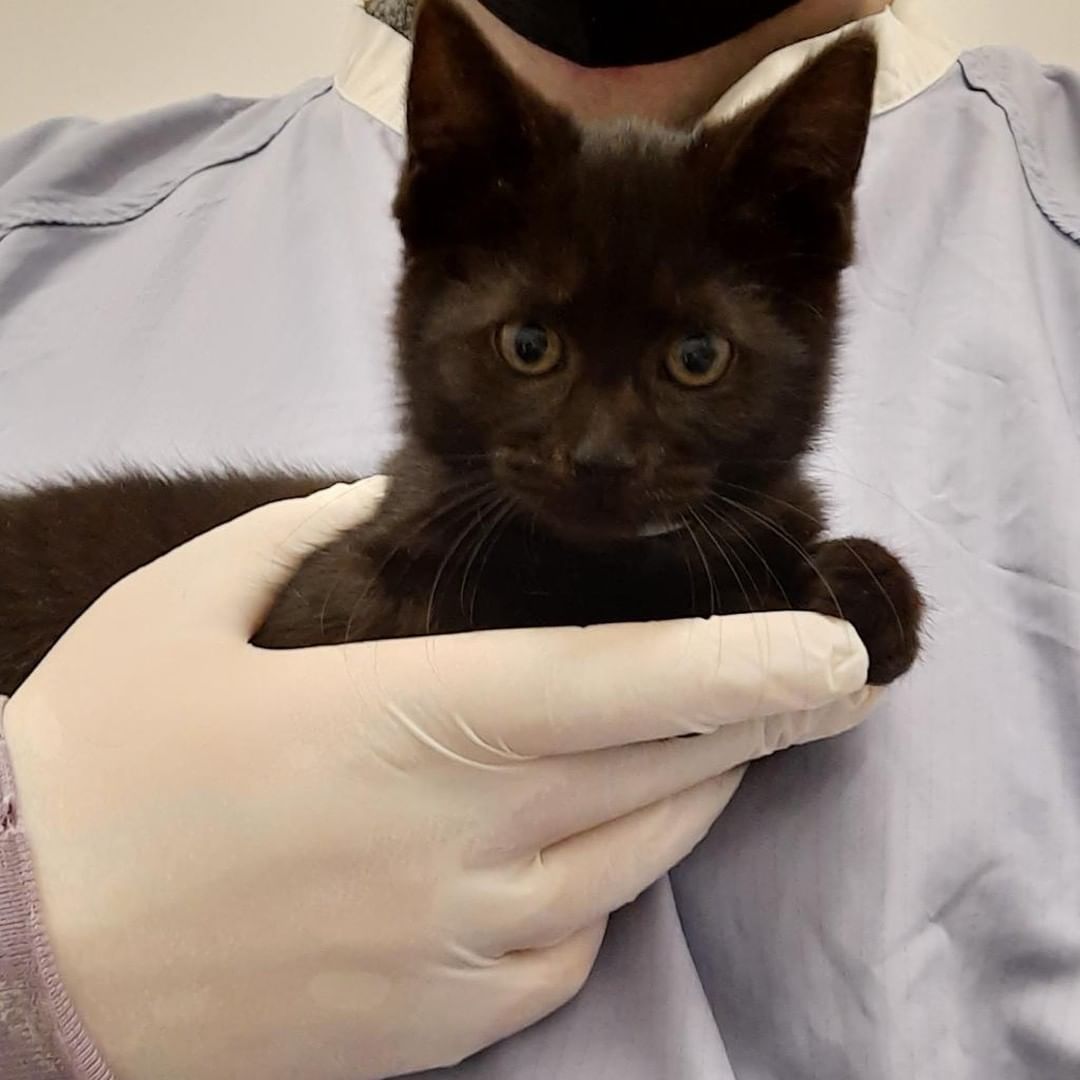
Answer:
<path fill-rule="evenodd" d="M 632 67 L 727 41 L 797 0 L 481 0 L 541 49 L 583 67 Z"/>

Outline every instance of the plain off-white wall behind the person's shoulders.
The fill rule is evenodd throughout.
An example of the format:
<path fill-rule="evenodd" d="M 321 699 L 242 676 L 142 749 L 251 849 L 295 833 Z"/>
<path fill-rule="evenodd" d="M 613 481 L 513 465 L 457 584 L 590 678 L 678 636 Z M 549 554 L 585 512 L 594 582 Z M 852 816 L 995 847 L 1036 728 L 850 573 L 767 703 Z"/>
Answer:
<path fill-rule="evenodd" d="M 355 0 L 0 0 L 0 133 L 334 70 Z M 724 0 L 711 0 L 720 3 Z M 961 44 L 1080 69 L 1080 0 L 926 0 Z"/>

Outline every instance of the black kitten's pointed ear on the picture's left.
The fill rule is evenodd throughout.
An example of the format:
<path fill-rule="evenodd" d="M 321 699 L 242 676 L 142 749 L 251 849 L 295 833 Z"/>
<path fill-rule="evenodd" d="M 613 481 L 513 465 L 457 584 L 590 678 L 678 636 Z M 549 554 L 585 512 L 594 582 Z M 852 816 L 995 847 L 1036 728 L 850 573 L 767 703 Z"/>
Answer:
<path fill-rule="evenodd" d="M 572 151 L 577 130 L 523 85 L 454 0 L 426 0 L 414 30 L 407 158 L 394 212 L 407 249 L 484 243 Z"/>

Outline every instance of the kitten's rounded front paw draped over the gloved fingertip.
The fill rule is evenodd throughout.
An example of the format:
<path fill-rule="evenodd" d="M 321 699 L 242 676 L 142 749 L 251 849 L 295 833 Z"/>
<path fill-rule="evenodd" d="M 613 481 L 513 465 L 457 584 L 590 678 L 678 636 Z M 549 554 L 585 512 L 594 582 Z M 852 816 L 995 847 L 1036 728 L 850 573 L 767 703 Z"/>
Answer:
<path fill-rule="evenodd" d="M 855 627 L 869 653 L 870 685 L 885 686 L 903 675 L 919 652 L 923 608 L 904 564 L 860 537 L 824 541 L 813 563 L 818 572 L 807 583 L 807 609 L 847 619 Z"/>

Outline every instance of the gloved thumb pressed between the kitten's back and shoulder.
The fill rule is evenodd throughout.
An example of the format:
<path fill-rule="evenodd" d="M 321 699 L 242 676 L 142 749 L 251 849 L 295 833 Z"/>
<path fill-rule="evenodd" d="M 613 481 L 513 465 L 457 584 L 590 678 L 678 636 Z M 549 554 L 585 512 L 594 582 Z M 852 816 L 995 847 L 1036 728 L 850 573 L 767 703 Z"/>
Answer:
<path fill-rule="evenodd" d="M 178 548 L 170 559 L 183 609 L 246 640 L 303 559 L 370 518 L 386 488 L 384 476 L 335 484 L 260 507 Z"/>

